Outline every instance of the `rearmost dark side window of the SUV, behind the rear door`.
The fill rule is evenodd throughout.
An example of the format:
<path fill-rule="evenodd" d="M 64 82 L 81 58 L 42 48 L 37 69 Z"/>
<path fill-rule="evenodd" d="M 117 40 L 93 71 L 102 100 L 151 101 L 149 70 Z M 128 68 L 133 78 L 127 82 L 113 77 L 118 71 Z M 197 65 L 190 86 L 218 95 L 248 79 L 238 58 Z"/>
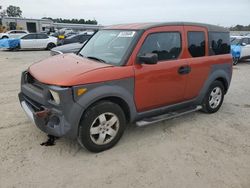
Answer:
<path fill-rule="evenodd" d="M 230 53 L 229 33 L 209 32 L 210 55 L 221 55 Z"/>

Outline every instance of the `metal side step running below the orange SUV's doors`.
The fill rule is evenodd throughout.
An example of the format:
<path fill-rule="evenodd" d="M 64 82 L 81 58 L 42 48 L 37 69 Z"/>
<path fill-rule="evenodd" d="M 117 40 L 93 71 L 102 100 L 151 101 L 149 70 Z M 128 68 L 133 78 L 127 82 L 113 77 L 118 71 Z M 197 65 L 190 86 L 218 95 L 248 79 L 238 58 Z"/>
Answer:
<path fill-rule="evenodd" d="M 189 114 L 191 112 L 195 112 L 195 111 L 198 111 L 198 110 L 201 110 L 201 109 L 202 109 L 202 106 L 196 106 L 196 107 L 193 107 L 193 108 L 183 109 L 183 110 L 179 110 L 179 111 L 175 111 L 175 112 L 169 112 L 167 114 L 154 116 L 154 117 L 151 117 L 151 118 L 145 118 L 143 120 L 137 121 L 136 125 L 138 127 L 143 127 L 143 126 L 150 125 L 150 124 L 153 124 L 153 123 L 158 123 L 158 122 L 161 122 L 161 121 L 164 121 L 164 120 L 173 119 L 173 118 L 176 118 L 176 117 L 179 117 L 179 116 L 182 116 L 182 115 L 185 115 L 185 114 Z"/>

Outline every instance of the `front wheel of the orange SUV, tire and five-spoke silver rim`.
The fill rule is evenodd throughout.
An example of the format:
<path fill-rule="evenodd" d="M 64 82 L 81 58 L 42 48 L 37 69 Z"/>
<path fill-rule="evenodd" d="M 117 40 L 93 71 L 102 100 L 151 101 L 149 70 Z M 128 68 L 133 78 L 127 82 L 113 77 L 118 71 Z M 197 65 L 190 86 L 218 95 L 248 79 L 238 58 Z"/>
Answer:
<path fill-rule="evenodd" d="M 78 132 L 78 142 L 91 152 L 112 148 L 126 127 L 121 107 L 110 101 L 100 101 L 84 113 Z"/>

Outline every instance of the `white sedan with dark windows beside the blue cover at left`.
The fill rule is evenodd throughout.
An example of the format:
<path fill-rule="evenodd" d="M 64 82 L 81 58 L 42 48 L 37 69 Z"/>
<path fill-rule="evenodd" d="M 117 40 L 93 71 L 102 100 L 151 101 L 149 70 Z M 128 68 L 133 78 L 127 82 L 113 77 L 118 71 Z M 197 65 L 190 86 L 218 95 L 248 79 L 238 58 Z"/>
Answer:
<path fill-rule="evenodd" d="M 21 49 L 47 49 L 54 48 L 57 38 L 48 36 L 44 33 L 30 33 L 20 38 Z"/>

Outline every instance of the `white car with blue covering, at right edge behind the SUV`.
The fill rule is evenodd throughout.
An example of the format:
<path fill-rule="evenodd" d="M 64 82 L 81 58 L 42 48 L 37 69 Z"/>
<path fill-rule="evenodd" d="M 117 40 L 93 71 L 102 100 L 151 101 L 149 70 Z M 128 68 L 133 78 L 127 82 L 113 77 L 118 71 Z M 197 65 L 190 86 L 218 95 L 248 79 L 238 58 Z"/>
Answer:
<path fill-rule="evenodd" d="M 240 60 L 250 58 L 250 36 L 232 36 L 231 53 L 233 64 L 236 65 Z"/>

